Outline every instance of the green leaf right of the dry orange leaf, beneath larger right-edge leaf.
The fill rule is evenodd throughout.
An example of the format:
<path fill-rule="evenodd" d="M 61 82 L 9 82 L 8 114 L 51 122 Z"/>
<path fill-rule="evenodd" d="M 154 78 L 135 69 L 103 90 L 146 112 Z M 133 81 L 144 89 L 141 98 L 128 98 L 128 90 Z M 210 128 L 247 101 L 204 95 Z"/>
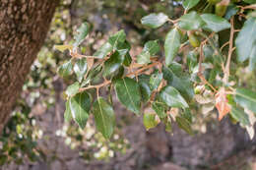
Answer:
<path fill-rule="evenodd" d="M 240 122 L 243 126 L 250 125 L 248 115 L 243 110 L 232 106 L 230 114 L 235 121 Z"/>

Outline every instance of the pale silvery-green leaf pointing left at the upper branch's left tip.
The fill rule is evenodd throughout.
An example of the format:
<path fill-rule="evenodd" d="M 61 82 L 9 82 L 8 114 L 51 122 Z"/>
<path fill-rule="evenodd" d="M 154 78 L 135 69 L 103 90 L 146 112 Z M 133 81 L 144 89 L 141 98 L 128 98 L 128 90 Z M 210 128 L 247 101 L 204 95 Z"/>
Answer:
<path fill-rule="evenodd" d="M 159 28 L 164 23 L 168 21 L 168 17 L 163 13 L 153 13 L 146 17 L 143 17 L 141 22 L 142 25 L 147 26 L 149 28 Z"/>

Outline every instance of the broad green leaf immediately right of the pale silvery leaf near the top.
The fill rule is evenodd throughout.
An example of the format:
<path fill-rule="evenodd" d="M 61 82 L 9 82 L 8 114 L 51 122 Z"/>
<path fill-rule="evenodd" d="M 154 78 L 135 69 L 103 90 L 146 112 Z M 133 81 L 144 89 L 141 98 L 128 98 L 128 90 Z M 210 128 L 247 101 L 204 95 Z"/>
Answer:
<path fill-rule="evenodd" d="M 178 27 L 183 28 L 185 30 L 199 29 L 199 28 L 202 28 L 204 25 L 205 25 L 205 22 L 194 11 L 182 16 L 178 22 Z"/>

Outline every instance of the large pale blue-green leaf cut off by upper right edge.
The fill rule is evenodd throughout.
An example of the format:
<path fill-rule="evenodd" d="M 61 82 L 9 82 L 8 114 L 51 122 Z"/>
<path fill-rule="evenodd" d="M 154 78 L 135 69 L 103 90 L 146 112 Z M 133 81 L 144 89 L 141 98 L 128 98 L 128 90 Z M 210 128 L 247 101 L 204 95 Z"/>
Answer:
<path fill-rule="evenodd" d="M 249 18 L 243 25 L 242 29 L 239 31 L 236 39 L 236 53 L 238 60 L 244 62 L 253 53 L 255 41 L 256 41 L 256 18 Z"/>

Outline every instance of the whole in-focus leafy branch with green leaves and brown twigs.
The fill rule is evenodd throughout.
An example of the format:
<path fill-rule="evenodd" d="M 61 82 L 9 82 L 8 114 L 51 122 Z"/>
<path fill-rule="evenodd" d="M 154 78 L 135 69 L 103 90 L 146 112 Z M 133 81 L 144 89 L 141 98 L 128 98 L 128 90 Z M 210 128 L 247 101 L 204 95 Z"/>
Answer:
<path fill-rule="evenodd" d="M 145 108 L 153 108 L 151 113 L 144 115 L 147 129 L 160 121 L 167 128 L 173 120 L 192 135 L 193 115 L 189 108 L 197 104 L 196 98 L 204 98 L 203 93 L 208 91 L 208 97 L 214 97 L 220 121 L 231 113 L 230 117 L 242 127 L 252 127 L 254 122 L 247 120 L 247 114 L 255 114 L 256 93 L 241 88 L 235 72 L 240 67 L 247 67 L 242 63 L 245 61 L 249 61 L 251 72 L 256 67 L 254 3 L 185 0 L 184 14 L 178 19 L 169 19 L 163 13 L 143 17 L 141 23 L 148 28 L 169 24 L 164 57 L 158 55 L 160 44 L 157 40 L 148 41 L 141 54 L 131 56 L 131 45 L 124 30 L 109 36 L 93 56 L 80 54 L 77 40 L 72 49 L 58 45 L 57 49 L 69 49 L 71 56 L 70 61 L 59 67 L 60 76 L 76 74 L 75 83 L 66 90 L 69 101 L 66 109 L 71 108 L 73 119 L 82 129 L 92 113 L 96 129 L 109 139 L 115 125 L 111 106 L 114 89 L 120 103 L 137 116 L 144 113 Z M 89 24 L 82 24 L 76 37 L 85 38 L 88 29 Z M 237 69 L 230 70 L 230 65 Z M 99 96 L 101 87 L 107 87 L 110 99 Z M 199 102 L 202 103 L 204 99 Z"/>

